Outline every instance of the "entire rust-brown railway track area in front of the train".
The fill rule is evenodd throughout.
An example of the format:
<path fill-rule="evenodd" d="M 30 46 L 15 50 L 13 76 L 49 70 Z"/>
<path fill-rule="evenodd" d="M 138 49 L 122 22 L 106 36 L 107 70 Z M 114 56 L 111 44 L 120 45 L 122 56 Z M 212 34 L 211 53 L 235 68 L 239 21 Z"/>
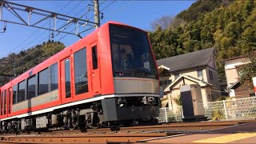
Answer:
<path fill-rule="evenodd" d="M 1 143 L 134 143 L 143 139 L 161 138 L 170 135 L 202 133 L 255 120 L 233 122 L 170 123 L 156 126 L 111 127 L 102 129 L 62 130 L 30 134 L 2 134 Z"/>

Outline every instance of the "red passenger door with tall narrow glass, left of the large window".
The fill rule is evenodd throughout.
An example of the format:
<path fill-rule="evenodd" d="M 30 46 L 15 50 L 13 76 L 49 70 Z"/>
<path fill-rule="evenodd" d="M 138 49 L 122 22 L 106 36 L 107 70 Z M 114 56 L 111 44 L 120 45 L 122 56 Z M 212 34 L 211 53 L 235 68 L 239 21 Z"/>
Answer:
<path fill-rule="evenodd" d="M 70 63 L 70 57 L 61 61 L 62 103 L 72 101 Z"/>

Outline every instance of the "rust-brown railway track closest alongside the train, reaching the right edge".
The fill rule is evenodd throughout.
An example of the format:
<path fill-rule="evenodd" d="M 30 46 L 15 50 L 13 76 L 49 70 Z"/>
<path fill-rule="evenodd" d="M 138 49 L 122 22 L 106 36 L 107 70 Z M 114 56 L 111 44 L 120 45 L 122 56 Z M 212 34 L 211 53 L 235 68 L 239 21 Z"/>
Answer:
<path fill-rule="evenodd" d="M 161 131 L 172 131 L 172 132 L 187 132 L 187 131 L 202 131 L 218 129 L 225 126 L 233 126 L 239 123 L 255 122 L 255 120 L 244 120 L 244 121 L 226 121 L 226 122 L 182 122 L 182 123 L 169 123 L 155 126 L 129 126 L 129 127 L 108 127 L 101 129 L 88 129 L 83 133 L 86 134 L 113 134 L 113 133 L 146 133 L 146 132 L 161 132 Z M 42 134 L 81 134 L 81 130 L 61 130 L 51 131 Z"/>

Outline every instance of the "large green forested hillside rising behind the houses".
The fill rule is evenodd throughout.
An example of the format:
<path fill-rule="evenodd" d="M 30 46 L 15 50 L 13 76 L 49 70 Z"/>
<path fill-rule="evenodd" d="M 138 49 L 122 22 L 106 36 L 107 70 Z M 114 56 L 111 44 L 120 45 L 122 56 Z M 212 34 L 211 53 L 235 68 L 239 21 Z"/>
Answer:
<path fill-rule="evenodd" d="M 157 59 L 215 47 L 220 78 L 222 60 L 256 50 L 256 1 L 198 0 L 172 24 L 150 32 Z"/>

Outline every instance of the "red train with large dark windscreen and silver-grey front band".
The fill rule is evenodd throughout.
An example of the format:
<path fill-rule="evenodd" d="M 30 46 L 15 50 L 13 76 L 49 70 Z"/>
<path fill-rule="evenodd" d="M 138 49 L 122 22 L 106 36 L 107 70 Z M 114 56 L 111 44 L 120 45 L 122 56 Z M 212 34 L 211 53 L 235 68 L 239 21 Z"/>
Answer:
<path fill-rule="evenodd" d="M 107 22 L 1 87 L 1 130 L 129 126 L 158 116 L 158 83 L 146 32 Z"/>

